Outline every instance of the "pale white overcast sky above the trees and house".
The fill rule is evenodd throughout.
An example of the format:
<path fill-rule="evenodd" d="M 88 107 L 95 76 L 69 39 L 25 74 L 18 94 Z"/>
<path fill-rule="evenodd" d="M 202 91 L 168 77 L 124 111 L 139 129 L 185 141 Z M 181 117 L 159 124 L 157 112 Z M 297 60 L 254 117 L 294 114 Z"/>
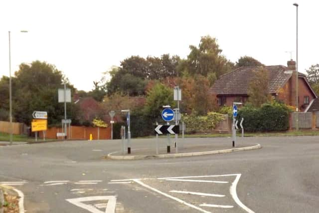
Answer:
<path fill-rule="evenodd" d="M 296 60 L 293 0 L 1 0 L 0 76 L 22 62 L 54 64 L 79 90 L 131 55 L 186 57 L 200 37 L 216 37 L 236 62 Z M 298 2 L 298 1 L 297 1 Z M 319 63 L 319 1 L 299 1 L 299 71 Z M 20 30 L 28 30 L 21 33 Z"/>

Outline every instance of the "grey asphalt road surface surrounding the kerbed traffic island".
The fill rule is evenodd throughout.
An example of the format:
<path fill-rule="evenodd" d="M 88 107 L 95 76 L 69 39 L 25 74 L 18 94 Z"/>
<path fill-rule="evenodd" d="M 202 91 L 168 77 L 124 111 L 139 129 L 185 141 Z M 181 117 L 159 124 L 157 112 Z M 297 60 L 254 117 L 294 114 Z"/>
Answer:
<path fill-rule="evenodd" d="M 244 140 L 262 149 L 125 161 L 103 158 L 120 140 L 0 146 L 0 184 L 27 213 L 318 213 L 318 136 Z M 201 141 L 231 143 L 187 139 Z"/>

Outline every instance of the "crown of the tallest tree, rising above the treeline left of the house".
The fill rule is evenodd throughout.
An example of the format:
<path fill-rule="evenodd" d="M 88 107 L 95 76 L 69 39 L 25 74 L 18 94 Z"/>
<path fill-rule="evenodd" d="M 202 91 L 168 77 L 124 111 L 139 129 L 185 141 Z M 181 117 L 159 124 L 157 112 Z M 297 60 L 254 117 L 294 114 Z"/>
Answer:
<path fill-rule="evenodd" d="M 203 76 L 212 72 L 216 73 L 217 78 L 230 71 L 229 68 L 232 63 L 221 54 L 222 49 L 219 48 L 216 38 L 209 35 L 203 36 L 198 48 L 193 45 L 190 45 L 189 48 L 187 66 L 183 67 L 183 71 L 187 71 L 191 75 L 201 74 Z"/>

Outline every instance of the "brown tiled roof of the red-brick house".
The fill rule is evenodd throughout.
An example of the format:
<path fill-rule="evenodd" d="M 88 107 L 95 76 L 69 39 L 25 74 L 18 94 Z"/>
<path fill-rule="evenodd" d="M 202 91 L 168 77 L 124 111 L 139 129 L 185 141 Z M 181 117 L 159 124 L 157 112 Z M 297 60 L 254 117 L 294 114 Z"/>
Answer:
<path fill-rule="evenodd" d="M 249 83 L 256 78 L 253 71 L 269 72 L 268 92 L 276 93 L 277 90 L 291 77 L 292 72 L 282 65 L 276 66 L 257 66 L 257 67 L 239 67 L 232 72 L 220 76 L 210 92 L 218 95 L 247 95 Z M 299 73 L 303 75 L 303 73 Z"/>

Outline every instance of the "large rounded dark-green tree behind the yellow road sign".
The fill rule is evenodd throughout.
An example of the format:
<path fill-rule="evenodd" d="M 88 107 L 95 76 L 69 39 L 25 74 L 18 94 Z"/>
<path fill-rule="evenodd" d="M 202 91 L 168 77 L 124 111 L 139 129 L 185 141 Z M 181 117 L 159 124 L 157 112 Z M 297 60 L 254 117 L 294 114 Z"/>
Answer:
<path fill-rule="evenodd" d="M 52 64 L 33 61 L 22 63 L 12 78 L 12 109 L 17 122 L 30 124 L 32 112 L 47 111 L 48 124 L 60 124 L 64 118 L 64 105 L 58 103 L 58 88 L 68 79 Z M 74 87 L 67 83 L 74 92 Z M 67 104 L 68 117 L 78 123 L 79 109 L 74 103 Z"/>

